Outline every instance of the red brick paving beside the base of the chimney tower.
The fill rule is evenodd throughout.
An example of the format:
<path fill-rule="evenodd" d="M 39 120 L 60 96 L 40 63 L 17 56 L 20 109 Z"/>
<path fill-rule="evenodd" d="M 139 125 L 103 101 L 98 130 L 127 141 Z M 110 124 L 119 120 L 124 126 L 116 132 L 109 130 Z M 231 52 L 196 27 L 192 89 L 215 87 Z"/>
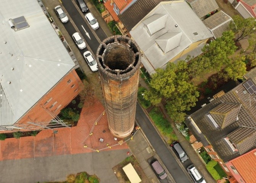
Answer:
<path fill-rule="evenodd" d="M 126 143 L 118 144 L 108 129 L 108 121 L 102 104 L 93 99 L 85 102 L 77 126 L 72 128 L 55 128 L 57 134 L 50 129 L 41 131 L 37 136 L 21 137 L 20 139 L 9 138 L 0 140 L 0 160 L 36 158 L 53 155 L 67 155 L 89 153 L 94 150 L 103 151 L 127 149 Z M 100 117 L 97 125 L 95 121 Z M 105 133 L 103 133 L 103 130 Z M 104 139 L 100 142 L 99 139 Z M 112 148 L 107 148 L 115 145 Z M 84 148 L 87 145 L 88 148 Z M 91 150 L 93 149 L 93 150 Z"/>

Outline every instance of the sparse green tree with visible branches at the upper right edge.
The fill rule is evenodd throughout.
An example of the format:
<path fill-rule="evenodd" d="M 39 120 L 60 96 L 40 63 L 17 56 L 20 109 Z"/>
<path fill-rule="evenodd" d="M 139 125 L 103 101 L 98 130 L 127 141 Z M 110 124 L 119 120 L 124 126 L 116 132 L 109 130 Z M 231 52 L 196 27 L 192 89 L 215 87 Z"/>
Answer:
<path fill-rule="evenodd" d="M 235 42 L 248 39 L 256 32 L 256 22 L 254 18 L 244 19 L 239 15 L 233 16 L 233 22 L 229 24 L 230 30 L 235 33 Z"/>

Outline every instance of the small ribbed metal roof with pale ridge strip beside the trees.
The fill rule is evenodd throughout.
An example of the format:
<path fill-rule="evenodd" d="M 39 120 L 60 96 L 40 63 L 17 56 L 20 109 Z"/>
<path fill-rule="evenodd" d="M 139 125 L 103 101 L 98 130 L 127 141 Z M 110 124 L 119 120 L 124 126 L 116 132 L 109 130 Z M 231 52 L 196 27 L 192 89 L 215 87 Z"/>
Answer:
<path fill-rule="evenodd" d="M 224 31 L 229 30 L 230 21 L 233 21 L 230 16 L 223 11 L 219 11 L 203 20 L 203 23 L 211 30 L 215 38 L 219 38 Z"/>

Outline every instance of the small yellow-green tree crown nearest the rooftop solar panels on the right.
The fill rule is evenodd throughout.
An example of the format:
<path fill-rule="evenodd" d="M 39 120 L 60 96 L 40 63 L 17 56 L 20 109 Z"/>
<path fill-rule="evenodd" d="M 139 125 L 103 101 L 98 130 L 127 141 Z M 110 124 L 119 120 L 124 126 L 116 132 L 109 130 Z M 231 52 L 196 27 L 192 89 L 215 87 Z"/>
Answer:
<path fill-rule="evenodd" d="M 230 59 L 229 65 L 224 69 L 224 79 L 231 78 L 233 80 L 242 79 L 246 73 L 245 56 L 237 55 Z"/>

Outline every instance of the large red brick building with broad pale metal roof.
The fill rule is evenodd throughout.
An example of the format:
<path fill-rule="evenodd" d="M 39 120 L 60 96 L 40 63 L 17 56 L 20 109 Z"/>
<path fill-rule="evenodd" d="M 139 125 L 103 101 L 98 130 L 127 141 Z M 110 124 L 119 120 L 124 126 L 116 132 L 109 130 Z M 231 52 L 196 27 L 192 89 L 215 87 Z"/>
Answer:
<path fill-rule="evenodd" d="M 61 121 L 82 82 L 55 29 L 34 0 L 2 2 L 0 21 L 0 133 Z"/>

